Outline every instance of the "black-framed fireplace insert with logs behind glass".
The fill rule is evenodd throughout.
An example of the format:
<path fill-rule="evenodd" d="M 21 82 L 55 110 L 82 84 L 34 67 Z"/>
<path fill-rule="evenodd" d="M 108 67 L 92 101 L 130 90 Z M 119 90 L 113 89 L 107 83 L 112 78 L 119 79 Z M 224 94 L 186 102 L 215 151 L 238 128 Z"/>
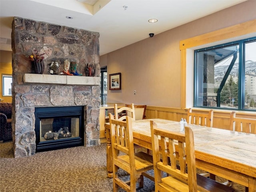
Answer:
<path fill-rule="evenodd" d="M 36 152 L 84 145 L 84 107 L 35 108 Z"/>

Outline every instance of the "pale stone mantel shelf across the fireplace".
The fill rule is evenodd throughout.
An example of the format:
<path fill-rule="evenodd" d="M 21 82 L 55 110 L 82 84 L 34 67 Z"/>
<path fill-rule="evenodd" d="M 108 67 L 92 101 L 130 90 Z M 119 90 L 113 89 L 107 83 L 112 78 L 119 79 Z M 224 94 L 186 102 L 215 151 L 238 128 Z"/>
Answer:
<path fill-rule="evenodd" d="M 100 85 L 100 77 L 29 74 L 23 76 L 24 83 L 49 83 L 66 85 Z"/>

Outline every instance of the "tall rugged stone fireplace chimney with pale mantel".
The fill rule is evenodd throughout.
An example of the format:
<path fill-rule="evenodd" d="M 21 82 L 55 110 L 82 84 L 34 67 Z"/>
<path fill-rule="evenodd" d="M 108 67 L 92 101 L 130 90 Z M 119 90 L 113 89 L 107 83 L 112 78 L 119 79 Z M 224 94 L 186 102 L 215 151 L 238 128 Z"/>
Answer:
<path fill-rule="evenodd" d="M 68 116 L 67 118 L 75 126 L 78 124 L 82 126 L 79 131 L 71 128 L 68 131 L 77 140 L 64 139 L 75 140 L 70 146 L 75 146 L 81 140 L 83 141 L 81 145 L 84 146 L 100 145 L 98 38 L 98 32 L 14 17 L 12 23 L 12 130 L 15 158 L 33 155 L 37 147 L 42 147 L 37 142 L 40 140 L 36 124 L 38 120 L 35 116 L 38 108 L 55 109 L 55 112 L 61 108 L 65 108 L 64 111 L 66 111 L 67 107 L 73 106 L 82 108 L 83 113 L 80 119 L 83 122 L 78 123 L 78 115 L 72 115 L 73 112 L 64 113 L 64 116 L 55 116 L 56 119 Z M 28 58 L 33 49 L 44 54 L 43 74 L 31 74 L 31 61 Z M 60 63 L 59 72 L 63 70 L 64 60 L 69 60 L 77 63 L 77 72 L 82 76 L 50 75 L 50 63 L 57 60 Z M 95 65 L 95 76 L 85 76 L 86 64 Z M 48 124 L 52 124 L 53 119 L 54 113 L 52 118 L 50 116 L 42 118 L 40 123 L 51 122 Z M 81 130 L 82 135 L 79 133 Z M 43 145 L 47 143 L 49 142 Z"/>

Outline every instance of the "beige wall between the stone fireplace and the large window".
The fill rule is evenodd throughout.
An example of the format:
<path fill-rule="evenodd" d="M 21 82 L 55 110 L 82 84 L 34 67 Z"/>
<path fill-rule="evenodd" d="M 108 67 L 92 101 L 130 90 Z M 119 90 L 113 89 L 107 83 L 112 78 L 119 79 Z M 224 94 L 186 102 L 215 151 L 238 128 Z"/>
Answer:
<path fill-rule="evenodd" d="M 108 74 L 122 73 L 122 90 L 108 90 L 108 102 L 182 108 L 180 40 L 254 20 L 255 7 L 249 0 L 101 56 Z"/>

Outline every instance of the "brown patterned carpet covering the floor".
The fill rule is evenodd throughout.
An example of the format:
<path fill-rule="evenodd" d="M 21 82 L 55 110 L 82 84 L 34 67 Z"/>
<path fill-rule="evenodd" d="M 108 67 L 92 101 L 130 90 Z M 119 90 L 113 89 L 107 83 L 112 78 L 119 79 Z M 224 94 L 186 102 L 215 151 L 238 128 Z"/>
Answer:
<path fill-rule="evenodd" d="M 25 158 L 14 158 L 12 142 L 0 143 L 0 173 L 0 192 L 112 192 L 112 179 L 106 175 L 106 143 Z M 127 177 L 122 170 L 119 174 Z M 239 185 L 235 188 L 245 191 Z M 144 178 L 144 188 L 137 192 L 154 192 L 154 182 Z"/>

